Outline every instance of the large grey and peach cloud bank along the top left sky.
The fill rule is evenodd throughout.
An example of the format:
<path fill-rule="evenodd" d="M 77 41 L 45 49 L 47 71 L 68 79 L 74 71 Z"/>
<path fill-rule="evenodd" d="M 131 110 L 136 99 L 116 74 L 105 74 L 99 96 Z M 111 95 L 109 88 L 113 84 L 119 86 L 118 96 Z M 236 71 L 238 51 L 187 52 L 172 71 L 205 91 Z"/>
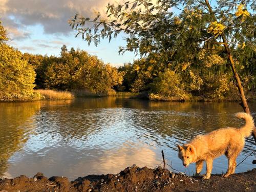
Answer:
<path fill-rule="evenodd" d="M 47 34 L 68 34 L 72 31 L 68 25 L 72 16 L 79 13 L 93 17 L 97 11 L 104 14 L 108 3 L 109 0 L 0 0 L 0 15 L 2 19 L 9 18 L 5 22 L 8 27 L 18 21 L 25 26 L 39 24 Z"/>

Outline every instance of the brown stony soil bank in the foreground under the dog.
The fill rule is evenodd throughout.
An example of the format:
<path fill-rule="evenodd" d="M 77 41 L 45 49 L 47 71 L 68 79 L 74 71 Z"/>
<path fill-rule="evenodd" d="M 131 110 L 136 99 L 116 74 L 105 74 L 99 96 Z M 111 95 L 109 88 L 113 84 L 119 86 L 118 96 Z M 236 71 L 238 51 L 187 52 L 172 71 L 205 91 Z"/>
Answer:
<path fill-rule="evenodd" d="M 89 175 L 69 181 L 66 177 L 34 178 L 19 176 L 0 180 L 0 192 L 12 191 L 256 191 L 256 169 L 223 178 L 212 175 L 209 180 L 172 173 L 167 169 L 127 167 L 119 174 Z"/>

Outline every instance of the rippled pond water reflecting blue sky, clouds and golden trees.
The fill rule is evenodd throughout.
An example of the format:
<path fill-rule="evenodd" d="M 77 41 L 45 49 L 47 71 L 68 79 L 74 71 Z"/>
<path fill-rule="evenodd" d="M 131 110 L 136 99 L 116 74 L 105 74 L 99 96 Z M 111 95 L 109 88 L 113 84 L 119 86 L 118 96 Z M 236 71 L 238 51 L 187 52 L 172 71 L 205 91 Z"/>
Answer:
<path fill-rule="evenodd" d="M 256 104 L 250 104 L 256 117 Z M 89 174 L 118 173 L 132 164 L 155 167 L 161 150 L 169 164 L 187 174 L 177 157 L 178 143 L 225 126 L 241 126 L 237 103 L 169 103 L 90 98 L 69 101 L 0 103 L 0 177 L 33 177 L 37 172 L 73 180 Z M 253 138 L 238 157 L 255 150 Z M 247 158 L 237 172 L 255 168 Z M 213 173 L 226 172 L 227 159 Z M 205 171 L 205 167 L 204 170 Z"/>

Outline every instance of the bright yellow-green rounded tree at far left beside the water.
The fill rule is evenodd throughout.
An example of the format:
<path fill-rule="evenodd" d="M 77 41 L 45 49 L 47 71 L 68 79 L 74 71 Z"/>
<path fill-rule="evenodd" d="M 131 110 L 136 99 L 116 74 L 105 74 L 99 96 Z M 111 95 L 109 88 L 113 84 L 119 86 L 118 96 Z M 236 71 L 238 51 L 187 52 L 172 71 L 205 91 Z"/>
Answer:
<path fill-rule="evenodd" d="M 22 53 L 0 44 L 0 100 L 30 100 L 38 97 L 33 91 L 35 72 Z"/>

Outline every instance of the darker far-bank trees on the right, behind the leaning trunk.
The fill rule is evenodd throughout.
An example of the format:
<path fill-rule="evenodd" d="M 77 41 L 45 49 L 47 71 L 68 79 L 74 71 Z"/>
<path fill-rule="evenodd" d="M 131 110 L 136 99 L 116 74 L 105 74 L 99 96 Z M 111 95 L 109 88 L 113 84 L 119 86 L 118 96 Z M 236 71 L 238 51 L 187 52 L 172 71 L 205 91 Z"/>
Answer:
<path fill-rule="evenodd" d="M 242 46 L 238 49 L 244 49 Z M 165 54 L 165 53 L 162 53 Z M 161 53 L 152 53 L 133 63 L 126 63 L 118 71 L 125 72 L 122 89 L 146 92 L 152 100 L 239 100 L 239 92 L 224 59 L 223 48 L 215 46 L 210 51 L 201 50 L 195 55 L 186 55 L 194 62 L 174 65 L 175 60 Z M 251 57 L 250 63 L 255 63 Z M 256 90 L 255 65 L 246 65 L 236 60 L 247 95 Z"/>

